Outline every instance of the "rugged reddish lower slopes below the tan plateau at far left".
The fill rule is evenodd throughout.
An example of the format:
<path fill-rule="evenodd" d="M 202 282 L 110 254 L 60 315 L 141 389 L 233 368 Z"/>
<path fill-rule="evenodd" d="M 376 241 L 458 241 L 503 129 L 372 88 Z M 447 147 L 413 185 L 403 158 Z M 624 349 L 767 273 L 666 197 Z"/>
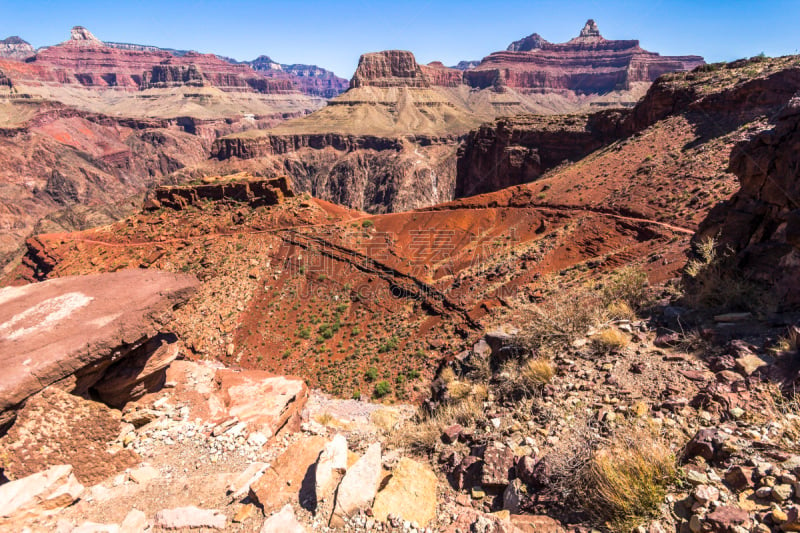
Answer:
<path fill-rule="evenodd" d="M 0 135 L 2 264 L 43 217 L 52 214 L 67 230 L 116 220 L 129 211 L 128 197 L 203 161 L 210 139 L 253 123 L 120 119 L 24 101 L 2 108 L 21 121 Z"/>

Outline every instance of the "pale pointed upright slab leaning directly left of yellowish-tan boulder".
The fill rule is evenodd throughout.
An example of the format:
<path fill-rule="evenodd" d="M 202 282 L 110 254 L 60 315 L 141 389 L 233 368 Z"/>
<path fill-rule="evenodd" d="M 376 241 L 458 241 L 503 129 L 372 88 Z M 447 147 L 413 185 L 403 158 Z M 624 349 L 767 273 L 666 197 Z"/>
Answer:
<path fill-rule="evenodd" d="M 376 442 L 347 470 L 339 483 L 330 527 L 341 527 L 345 518 L 369 508 L 375 499 L 380 478 L 381 445 Z"/>

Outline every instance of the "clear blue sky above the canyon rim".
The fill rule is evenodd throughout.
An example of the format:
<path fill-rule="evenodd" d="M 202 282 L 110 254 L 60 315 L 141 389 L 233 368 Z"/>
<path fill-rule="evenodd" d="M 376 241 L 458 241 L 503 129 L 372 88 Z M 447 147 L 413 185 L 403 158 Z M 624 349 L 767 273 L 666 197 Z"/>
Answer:
<path fill-rule="evenodd" d="M 405 49 L 421 62 L 450 65 L 480 59 L 533 32 L 566 41 L 588 18 L 608 39 L 639 39 L 645 49 L 664 55 L 722 61 L 800 48 L 800 0 L 0 0 L 0 38 L 19 35 L 46 46 L 66 40 L 69 29 L 81 25 L 106 41 L 236 59 L 266 54 L 349 78 L 364 52 Z"/>

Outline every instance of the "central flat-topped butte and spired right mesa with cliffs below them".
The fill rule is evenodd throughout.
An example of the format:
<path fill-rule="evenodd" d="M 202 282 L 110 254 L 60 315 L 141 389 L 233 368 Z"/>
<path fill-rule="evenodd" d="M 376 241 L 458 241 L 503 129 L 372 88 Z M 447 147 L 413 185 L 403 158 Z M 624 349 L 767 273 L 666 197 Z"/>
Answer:
<path fill-rule="evenodd" d="M 418 208 L 535 179 L 632 131 L 634 121 L 623 125 L 622 115 L 611 113 L 526 117 L 516 125 L 505 120 L 479 128 L 481 123 L 631 106 L 660 74 L 700 63 L 695 56 L 646 52 L 637 41 L 608 41 L 591 21 L 569 43 L 551 44 L 534 34 L 479 65 L 459 68 L 422 65 L 403 50 L 369 53 L 361 56 L 350 89 L 325 108 L 270 131 L 220 139 L 213 154 L 223 161 L 256 160 L 244 168 L 288 173 L 296 190 L 349 207 Z M 657 113 L 639 120 L 641 127 Z M 441 157 L 452 158 L 455 151 L 448 148 L 476 128 L 467 136 L 456 178 L 456 162 Z M 414 177 L 403 170 L 408 163 Z M 380 194 L 362 185 L 365 175 L 379 182 Z M 408 184 L 414 188 L 406 190 Z"/>

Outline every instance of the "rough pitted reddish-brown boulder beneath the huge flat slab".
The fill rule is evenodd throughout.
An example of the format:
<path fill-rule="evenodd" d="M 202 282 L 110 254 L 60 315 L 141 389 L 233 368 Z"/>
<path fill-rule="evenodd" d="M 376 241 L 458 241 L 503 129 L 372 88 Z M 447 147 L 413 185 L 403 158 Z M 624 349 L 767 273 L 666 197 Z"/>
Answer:
<path fill-rule="evenodd" d="M 20 479 L 69 464 L 89 486 L 139 462 L 131 450 L 109 453 L 120 432 L 121 413 L 92 400 L 48 387 L 30 397 L 8 433 L 0 438 L 5 474 Z"/>

